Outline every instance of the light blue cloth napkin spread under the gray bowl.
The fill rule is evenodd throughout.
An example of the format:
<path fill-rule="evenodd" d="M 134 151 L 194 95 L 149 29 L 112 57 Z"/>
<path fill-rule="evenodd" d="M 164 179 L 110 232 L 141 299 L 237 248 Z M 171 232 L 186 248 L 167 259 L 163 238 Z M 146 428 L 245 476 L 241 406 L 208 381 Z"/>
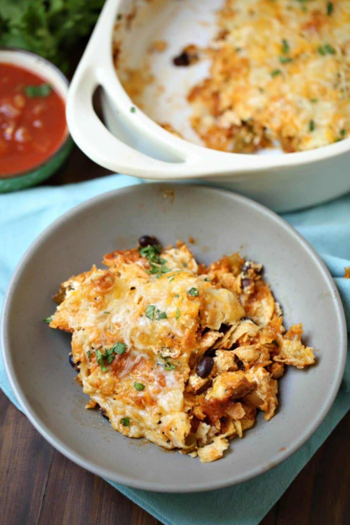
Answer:
<path fill-rule="evenodd" d="M 0 301 L 18 260 L 29 244 L 59 215 L 81 201 L 142 181 L 111 175 L 66 186 L 43 186 L 0 195 Z M 284 216 L 321 255 L 340 290 L 350 327 L 350 194 L 315 208 Z M 349 355 L 349 352 L 348 352 Z M 0 358 L 0 386 L 19 408 Z M 240 485 L 211 492 L 166 494 L 112 485 L 166 525 L 254 525 L 280 498 L 350 407 L 350 359 L 336 400 L 313 436 L 290 458 Z"/>

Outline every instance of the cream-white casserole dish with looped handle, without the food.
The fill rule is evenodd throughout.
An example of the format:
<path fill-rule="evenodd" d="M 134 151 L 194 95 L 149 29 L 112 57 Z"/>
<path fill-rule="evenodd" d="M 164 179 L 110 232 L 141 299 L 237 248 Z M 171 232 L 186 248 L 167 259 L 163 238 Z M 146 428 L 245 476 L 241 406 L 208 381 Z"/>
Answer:
<path fill-rule="evenodd" d="M 84 153 L 116 172 L 152 180 L 196 179 L 247 195 L 278 212 L 318 204 L 350 191 L 350 139 L 319 149 L 281 155 L 274 154 L 273 150 L 264 155 L 226 153 L 176 137 L 139 108 L 131 112 L 134 103 L 126 95 L 114 69 L 112 39 L 116 16 L 122 13 L 125 19 L 128 13 L 134 13 L 135 5 L 140 4 L 143 30 L 136 27 L 131 36 L 126 37 L 128 53 L 130 50 L 131 55 L 140 58 L 146 41 L 157 37 L 152 23 L 159 6 L 163 11 L 158 26 L 163 27 L 171 20 L 172 36 L 176 37 L 174 27 L 177 24 L 181 29 L 177 31 L 177 48 L 184 45 L 182 27 L 186 26 L 190 8 L 195 6 L 194 0 L 181 3 L 174 0 L 155 3 L 107 0 L 68 95 L 69 130 Z M 165 4 L 169 4 L 167 17 Z M 178 6 L 176 12 L 174 4 Z M 212 10 L 218 1 L 201 2 L 197 15 L 203 18 L 209 4 Z M 169 71 L 164 71 L 166 80 L 172 81 L 168 75 Z M 98 86 L 103 88 L 103 113 L 109 129 L 92 107 L 92 95 Z"/>

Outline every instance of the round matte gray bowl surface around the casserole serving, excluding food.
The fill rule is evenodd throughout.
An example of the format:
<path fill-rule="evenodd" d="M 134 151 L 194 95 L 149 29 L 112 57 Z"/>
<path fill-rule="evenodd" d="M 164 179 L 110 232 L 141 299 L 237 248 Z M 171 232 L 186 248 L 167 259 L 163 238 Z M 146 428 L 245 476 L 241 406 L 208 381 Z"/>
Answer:
<path fill-rule="evenodd" d="M 166 191 L 171 190 L 171 191 Z M 319 349 L 309 370 L 289 368 L 279 382 L 280 407 L 260 416 L 225 457 L 201 464 L 122 436 L 97 411 L 68 363 L 70 335 L 43 319 L 55 310 L 60 282 L 142 234 L 163 244 L 195 238 L 199 261 L 241 248 L 260 261 L 287 327 L 302 321 Z M 207 187 L 145 184 L 99 195 L 62 215 L 31 245 L 10 282 L 2 313 L 4 362 L 25 414 L 60 452 L 95 474 L 142 489 L 188 492 L 225 487 L 287 458 L 319 426 L 340 385 L 346 355 L 344 311 L 335 284 L 306 241 L 280 217 L 245 197 Z M 142 445 L 142 446 L 141 446 Z"/>

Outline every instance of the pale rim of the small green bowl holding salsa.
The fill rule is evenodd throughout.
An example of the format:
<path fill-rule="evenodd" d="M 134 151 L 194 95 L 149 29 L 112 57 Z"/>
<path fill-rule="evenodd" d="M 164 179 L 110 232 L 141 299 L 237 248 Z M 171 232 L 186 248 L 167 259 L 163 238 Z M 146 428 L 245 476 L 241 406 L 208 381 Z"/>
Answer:
<path fill-rule="evenodd" d="M 68 80 L 68 78 L 65 75 L 63 75 L 62 71 L 57 66 L 55 66 L 55 64 L 52 64 L 52 62 L 50 62 L 46 58 L 40 57 L 40 55 L 37 55 L 36 53 L 33 53 L 33 51 L 29 51 L 27 49 L 21 49 L 19 47 L 13 47 L 13 46 L 11 46 L 11 47 L 0 46 L 0 64 L 11 64 L 13 66 L 16 66 L 16 64 L 14 62 L 10 62 L 8 60 L 6 60 L 6 61 L 2 60 L 2 58 L 1 58 L 2 51 L 10 51 L 10 52 L 13 52 L 15 54 L 30 55 L 30 56 L 32 56 L 34 58 L 37 58 L 38 60 L 40 60 L 42 62 L 45 62 L 45 64 L 48 67 L 51 67 L 51 69 L 53 69 L 55 71 L 55 73 L 58 74 L 61 77 L 63 82 L 66 84 L 67 89 L 69 88 L 69 80 Z M 36 74 L 36 71 L 33 68 L 29 67 L 29 66 L 28 67 L 27 66 L 26 67 L 22 67 L 22 69 L 27 69 L 28 71 L 33 72 L 34 74 Z M 60 97 L 63 99 L 65 107 L 66 107 L 66 104 L 67 104 L 67 96 L 68 96 L 68 90 L 67 90 L 66 97 L 64 99 L 60 95 Z M 65 116 L 65 118 L 66 118 L 66 116 Z M 27 170 L 17 171 L 15 173 L 8 173 L 8 174 L 4 174 L 4 175 L 2 175 L 0 173 L 0 183 L 1 183 L 1 181 L 8 181 L 8 180 L 11 180 L 12 178 L 25 177 L 26 175 L 30 175 L 33 172 L 36 172 L 36 171 L 40 170 L 42 167 L 46 166 L 46 164 L 51 162 L 52 159 L 54 159 L 56 156 L 58 156 L 62 152 L 62 150 L 64 150 L 66 148 L 66 146 L 68 146 L 68 144 L 70 144 L 71 140 L 72 140 L 72 138 L 71 138 L 71 135 L 69 133 L 68 124 L 67 124 L 67 120 L 66 120 L 65 135 L 63 135 L 63 140 L 59 143 L 59 145 L 57 146 L 56 150 L 54 150 L 46 159 L 44 159 L 43 161 L 39 162 L 39 164 L 34 164 L 33 166 L 29 167 Z"/>

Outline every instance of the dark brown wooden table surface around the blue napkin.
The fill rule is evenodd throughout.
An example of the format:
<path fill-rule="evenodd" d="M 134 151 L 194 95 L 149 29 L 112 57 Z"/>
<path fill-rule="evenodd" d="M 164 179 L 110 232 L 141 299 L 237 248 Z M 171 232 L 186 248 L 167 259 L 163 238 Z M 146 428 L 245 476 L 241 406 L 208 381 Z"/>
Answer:
<path fill-rule="evenodd" d="M 75 147 L 65 165 L 46 184 L 66 184 L 107 174 Z M 0 418 L 0 524 L 160 524 L 107 482 L 52 448 L 1 391 Z M 350 413 L 261 525 L 350 523 L 349 435 Z"/>

